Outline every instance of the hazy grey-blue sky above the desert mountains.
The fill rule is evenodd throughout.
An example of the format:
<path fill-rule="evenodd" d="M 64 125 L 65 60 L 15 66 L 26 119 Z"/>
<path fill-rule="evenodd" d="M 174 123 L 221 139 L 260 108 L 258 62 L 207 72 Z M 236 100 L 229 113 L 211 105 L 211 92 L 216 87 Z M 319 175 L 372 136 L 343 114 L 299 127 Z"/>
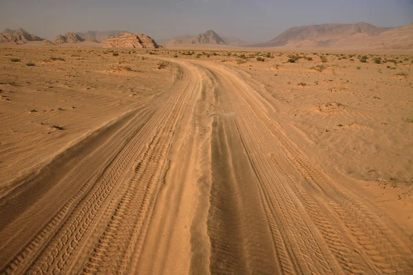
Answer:
<path fill-rule="evenodd" d="M 360 21 L 407 25 L 413 22 L 413 0 L 0 0 L 1 30 L 23 28 L 46 39 L 87 30 L 165 39 L 212 29 L 257 42 L 297 25 Z"/>

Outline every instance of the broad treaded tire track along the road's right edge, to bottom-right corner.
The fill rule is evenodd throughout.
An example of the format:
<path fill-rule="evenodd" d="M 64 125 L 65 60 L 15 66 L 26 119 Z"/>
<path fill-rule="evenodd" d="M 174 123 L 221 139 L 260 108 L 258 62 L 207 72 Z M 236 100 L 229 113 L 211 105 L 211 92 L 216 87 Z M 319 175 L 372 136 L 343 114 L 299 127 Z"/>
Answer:
<path fill-rule="evenodd" d="M 242 128 L 240 132 L 245 135 L 244 141 L 248 143 L 253 134 L 257 140 L 257 136 L 259 136 L 257 133 L 260 131 L 262 136 L 266 137 L 251 144 L 251 148 L 247 146 L 247 150 L 253 151 L 255 149 L 253 147 L 258 147 L 255 149 L 256 153 L 268 152 L 271 155 L 273 150 L 262 147 L 262 144 L 275 141 L 276 148 L 280 151 L 278 155 L 284 155 L 301 178 L 304 178 L 312 187 L 305 188 L 301 181 L 298 183 L 297 180 L 288 177 L 284 168 L 277 172 L 283 176 L 282 181 L 290 183 L 284 184 L 285 186 L 294 187 L 294 190 L 290 190 L 290 192 L 297 195 L 299 202 L 306 208 L 304 211 L 310 214 L 329 250 L 335 254 L 341 268 L 350 273 L 405 274 L 411 272 L 412 264 L 409 259 L 411 259 L 412 252 L 410 248 L 390 236 L 394 235 L 394 232 L 381 225 L 376 215 L 366 206 L 339 190 L 325 175 L 310 164 L 304 153 L 299 151 L 297 146 L 286 137 L 281 127 L 269 117 L 264 103 L 260 102 L 251 87 L 237 81 L 237 78 L 228 72 L 219 72 L 221 72 L 222 82 L 228 85 L 227 89 L 237 91 L 239 95 L 238 97 L 234 96 L 233 101 L 241 101 L 241 99 L 244 101 L 235 107 L 240 113 L 244 113 L 240 119 Z M 248 122 L 248 118 L 251 117 L 257 118 L 262 128 L 261 130 L 255 128 L 250 131 L 251 135 L 247 136 L 248 130 L 246 129 L 257 124 L 256 121 L 250 120 Z M 262 129 L 266 129 L 266 131 L 263 132 Z M 258 163 L 258 160 L 254 159 L 256 156 L 251 154 L 251 157 L 253 164 Z M 281 162 L 277 161 L 274 154 L 269 157 L 269 162 L 272 163 L 273 167 L 282 167 Z M 257 167 L 261 165 L 257 164 Z M 258 173 L 260 174 L 260 172 Z M 263 172 L 263 174 L 265 173 Z M 313 199 L 310 199 L 320 196 L 324 201 L 322 205 L 328 206 L 327 208 L 321 207 L 320 203 L 315 203 Z M 306 212 L 303 212 L 304 215 Z M 326 213 L 326 215 L 324 216 L 322 213 Z M 339 224 L 345 225 L 347 230 L 340 230 L 341 226 L 338 228 L 337 225 L 333 226 L 337 223 L 337 219 L 332 219 L 332 217 L 339 217 Z"/>

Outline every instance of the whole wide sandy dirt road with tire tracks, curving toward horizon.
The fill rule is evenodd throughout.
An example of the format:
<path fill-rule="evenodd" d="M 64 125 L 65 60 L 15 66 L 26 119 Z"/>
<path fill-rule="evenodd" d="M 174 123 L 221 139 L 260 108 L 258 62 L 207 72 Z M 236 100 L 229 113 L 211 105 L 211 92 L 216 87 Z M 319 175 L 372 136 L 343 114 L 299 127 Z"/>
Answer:
<path fill-rule="evenodd" d="M 413 274 L 408 236 L 312 164 L 240 72 L 167 60 L 169 91 L 0 201 L 1 271 Z"/>

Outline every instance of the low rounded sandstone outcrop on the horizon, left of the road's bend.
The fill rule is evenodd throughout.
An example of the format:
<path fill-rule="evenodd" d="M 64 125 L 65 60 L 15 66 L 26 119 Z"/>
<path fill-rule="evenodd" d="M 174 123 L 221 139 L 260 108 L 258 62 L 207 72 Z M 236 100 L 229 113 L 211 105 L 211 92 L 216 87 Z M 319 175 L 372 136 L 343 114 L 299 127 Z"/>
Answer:
<path fill-rule="evenodd" d="M 103 47 L 158 48 L 159 45 L 146 34 L 120 34 L 105 41 Z"/>

